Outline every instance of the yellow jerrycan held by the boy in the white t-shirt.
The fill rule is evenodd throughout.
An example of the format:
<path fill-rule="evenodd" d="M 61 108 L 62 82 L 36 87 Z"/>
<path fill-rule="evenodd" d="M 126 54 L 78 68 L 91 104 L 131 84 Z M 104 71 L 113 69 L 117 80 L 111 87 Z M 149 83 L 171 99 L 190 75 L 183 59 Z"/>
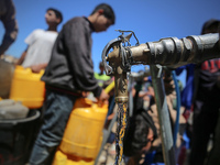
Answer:
<path fill-rule="evenodd" d="M 41 81 L 44 70 L 35 74 L 31 68 L 16 66 L 11 84 L 10 99 L 21 101 L 30 109 L 43 106 L 45 84 Z"/>

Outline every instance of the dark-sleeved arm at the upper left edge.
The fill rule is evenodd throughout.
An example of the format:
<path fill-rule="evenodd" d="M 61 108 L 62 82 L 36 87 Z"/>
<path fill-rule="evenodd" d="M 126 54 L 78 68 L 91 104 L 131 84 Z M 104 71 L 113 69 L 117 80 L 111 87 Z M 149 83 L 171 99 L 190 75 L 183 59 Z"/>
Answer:
<path fill-rule="evenodd" d="M 7 12 L 1 16 L 1 21 L 6 29 L 3 40 L 0 45 L 0 56 L 15 41 L 18 35 L 18 23 L 15 20 L 15 9 L 12 0 L 6 0 Z"/>

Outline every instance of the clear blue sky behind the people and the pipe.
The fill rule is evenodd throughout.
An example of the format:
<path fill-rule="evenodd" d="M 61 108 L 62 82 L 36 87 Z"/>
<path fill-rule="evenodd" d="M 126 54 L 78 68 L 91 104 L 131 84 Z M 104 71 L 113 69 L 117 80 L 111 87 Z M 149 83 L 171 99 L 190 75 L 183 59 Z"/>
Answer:
<path fill-rule="evenodd" d="M 114 30 L 131 30 L 140 43 L 158 41 L 162 37 L 199 35 L 202 24 L 209 19 L 220 20 L 219 0 L 13 0 L 16 9 L 19 34 L 16 41 L 6 52 L 19 58 L 26 48 L 24 38 L 35 29 L 46 29 L 45 12 L 47 8 L 62 11 L 64 20 L 62 30 L 73 16 L 88 16 L 99 3 L 109 3 L 116 12 L 116 24 L 107 32 L 94 33 L 92 59 L 95 72 L 99 72 L 99 62 L 106 44 L 120 35 Z M 3 36 L 0 23 L 0 38 Z M 135 41 L 131 41 L 132 45 Z M 145 66 L 132 66 L 132 72 Z M 183 74 L 179 78 L 183 78 Z"/>

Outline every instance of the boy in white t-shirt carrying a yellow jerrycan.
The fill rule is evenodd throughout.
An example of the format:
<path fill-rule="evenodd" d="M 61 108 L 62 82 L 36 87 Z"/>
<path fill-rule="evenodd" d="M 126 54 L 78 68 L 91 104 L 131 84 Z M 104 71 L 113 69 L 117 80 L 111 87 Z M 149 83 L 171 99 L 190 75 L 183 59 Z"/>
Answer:
<path fill-rule="evenodd" d="M 57 26 L 62 22 L 62 13 L 48 8 L 45 13 L 47 30 L 34 30 L 26 38 L 28 48 L 22 53 L 18 65 L 30 67 L 32 72 L 38 73 L 44 69 L 51 58 L 52 48 L 58 35 Z"/>

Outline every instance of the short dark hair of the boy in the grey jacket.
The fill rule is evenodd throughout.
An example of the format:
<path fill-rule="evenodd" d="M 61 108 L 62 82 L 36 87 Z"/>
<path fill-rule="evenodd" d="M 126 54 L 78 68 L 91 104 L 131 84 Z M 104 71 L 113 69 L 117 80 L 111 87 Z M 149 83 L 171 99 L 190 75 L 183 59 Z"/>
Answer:
<path fill-rule="evenodd" d="M 113 9 L 112 9 L 109 4 L 107 4 L 107 3 L 98 4 L 98 6 L 94 9 L 94 11 L 91 12 L 90 15 L 92 15 L 95 12 L 97 12 L 97 11 L 100 10 L 100 9 L 103 9 L 103 15 L 105 15 L 107 19 L 111 20 L 111 21 L 112 21 L 112 24 L 114 24 L 114 22 L 116 22 L 116 15 L 114 15 Z"/>

